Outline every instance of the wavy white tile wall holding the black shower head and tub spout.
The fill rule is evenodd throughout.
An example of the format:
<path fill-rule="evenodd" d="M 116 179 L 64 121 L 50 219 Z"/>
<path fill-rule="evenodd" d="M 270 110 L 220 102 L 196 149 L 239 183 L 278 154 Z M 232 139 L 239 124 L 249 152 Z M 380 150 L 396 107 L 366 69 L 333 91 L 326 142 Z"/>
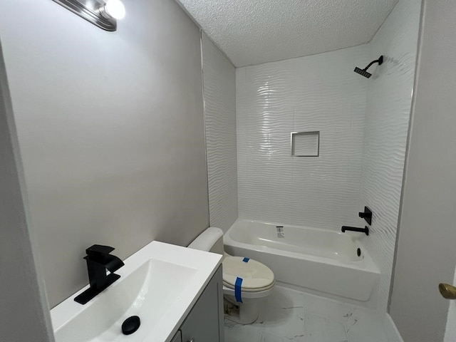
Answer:
<path fill-rule="evenodd" d="M 415 77 L 421 1 L 400 0 L 371 41 L 385 56 L 368 83 L 361 200 L 373 211 L 366 248 L 381 270 L 378 309 L 388 305 L 405 147 Z"/>

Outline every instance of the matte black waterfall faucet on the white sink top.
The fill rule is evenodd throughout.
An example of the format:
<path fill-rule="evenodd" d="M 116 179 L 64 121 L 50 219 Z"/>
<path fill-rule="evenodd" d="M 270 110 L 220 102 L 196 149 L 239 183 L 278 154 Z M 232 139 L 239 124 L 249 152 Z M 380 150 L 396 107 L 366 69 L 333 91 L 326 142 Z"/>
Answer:
<path fill-rule="evenodd" d="M 80 304 L 86 304 L 90 299 L 93 299 L 93 297 L 120 278 L 114 272 L 124 264 L 118 257 L 110 254 L 113 250 L 113 247 L 102 246 L 100 244 L 94 244 L 92 247 L 86 249 L 87 256 L 84 259 L 87 261 L 90 287 L 77 296 L 74 299 L 75 301 Z M 107 269 L 110 271 L 110 274 L 106 274 Z"/>

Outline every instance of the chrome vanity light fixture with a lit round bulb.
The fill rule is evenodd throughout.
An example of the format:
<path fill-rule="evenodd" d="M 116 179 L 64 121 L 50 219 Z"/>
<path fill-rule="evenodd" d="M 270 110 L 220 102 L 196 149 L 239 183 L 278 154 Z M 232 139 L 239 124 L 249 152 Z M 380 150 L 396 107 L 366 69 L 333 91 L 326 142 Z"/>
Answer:
<path fill-rule="evenodd" d="M 120 0 L 53 0 L 81 18 L 103 28 L 105 31 L 117 30 L 117 19 L 125 17 L 125 6 Z"/>

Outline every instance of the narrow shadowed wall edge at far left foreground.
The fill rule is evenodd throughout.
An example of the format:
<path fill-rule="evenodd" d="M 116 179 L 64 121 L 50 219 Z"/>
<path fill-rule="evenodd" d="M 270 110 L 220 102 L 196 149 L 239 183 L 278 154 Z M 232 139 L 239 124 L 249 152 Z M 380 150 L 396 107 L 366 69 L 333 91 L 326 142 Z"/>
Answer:
<path fill-rule="evenodd" d="M 0 340 L 5 342 L 53 341 L 27 215 L 24 172 L 0 46 Z"/>

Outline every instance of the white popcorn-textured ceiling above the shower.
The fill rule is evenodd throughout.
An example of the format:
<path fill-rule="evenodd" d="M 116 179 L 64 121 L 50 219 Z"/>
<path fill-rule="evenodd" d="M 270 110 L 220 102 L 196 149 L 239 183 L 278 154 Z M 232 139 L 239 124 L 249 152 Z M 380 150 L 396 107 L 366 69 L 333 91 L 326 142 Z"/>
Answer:
<path fill-rule="evenodd" d="M 398 0 L 177 0 L 235 66 L 371 40 Z"/>

